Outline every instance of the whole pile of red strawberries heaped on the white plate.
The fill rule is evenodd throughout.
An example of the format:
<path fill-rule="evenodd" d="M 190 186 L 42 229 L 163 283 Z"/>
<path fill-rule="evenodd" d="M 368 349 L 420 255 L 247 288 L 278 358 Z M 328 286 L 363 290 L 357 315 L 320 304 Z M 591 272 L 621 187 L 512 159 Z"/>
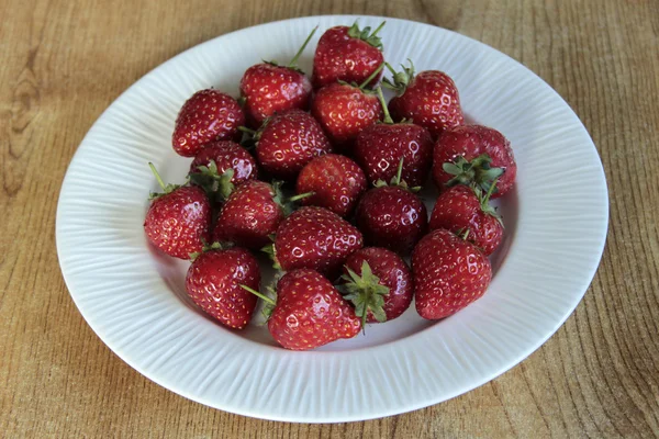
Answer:
<path fill-rule="evenodd" d="M 326 31 L 311 80 L 295 61 L 315 30 L 287 66 L 248 68 L 238 100 L 208 89 L 181 108 L 172 145 L 194 157 L 190 173 L 165 184 L 152 166 L 163 193 L 144 228 L 192 260 L 187 292 L 221 324 L 244 328 L 260 297 L 275 340 L 306 350 L 394 319 L 413 297 L 438 319 L 488 289 L 503 236 L 489 201 L 514 183 L 510 143 L 463 124 L 446 74 L 384 63 L 382 25 Z M 440 195 L 428 221 L 417 190 L 431 175 Z M 261 249 L 279 270 L 265 292 Z"/>

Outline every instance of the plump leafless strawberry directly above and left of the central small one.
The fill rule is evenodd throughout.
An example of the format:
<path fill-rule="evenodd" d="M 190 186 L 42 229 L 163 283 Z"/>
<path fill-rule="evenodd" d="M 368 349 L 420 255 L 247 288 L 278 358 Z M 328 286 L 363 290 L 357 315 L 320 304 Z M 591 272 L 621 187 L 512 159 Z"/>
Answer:
<path fill-rule="evenodd" d="M 321 125 L 301 110 L 272 116 L 256 144 L 260 166 L 282 180 L 294 179 L 314 157 L 331 151 L 332 145 Z"/>

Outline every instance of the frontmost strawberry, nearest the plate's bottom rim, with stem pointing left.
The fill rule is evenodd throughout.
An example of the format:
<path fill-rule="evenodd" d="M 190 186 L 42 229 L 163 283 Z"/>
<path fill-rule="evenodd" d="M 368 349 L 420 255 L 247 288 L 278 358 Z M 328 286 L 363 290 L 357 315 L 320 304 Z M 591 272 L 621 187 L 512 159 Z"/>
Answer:
<path fill-rule="evenodd" d="M 248 286 L 245 290 L 268 303 L 268 330 L 286 349 L 315 349 L 340 338 L 353 338 L 361 328 L 350 304 L 314 270 L 286 273 L 277 282 L 276 297 Z"/>

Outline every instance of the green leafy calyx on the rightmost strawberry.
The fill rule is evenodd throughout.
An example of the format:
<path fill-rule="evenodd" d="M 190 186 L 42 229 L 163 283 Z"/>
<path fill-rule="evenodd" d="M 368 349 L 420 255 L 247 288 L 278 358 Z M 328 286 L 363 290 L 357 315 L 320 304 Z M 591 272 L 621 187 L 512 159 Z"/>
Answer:
<path fill-rule="evenodd" d="M 491 164 L 492 158 L 487 154 L 481 154 L 471 161 L 460 156 L 454 162 L 446 162 L 442 165 L 442 169 L 454 176 L 446 185 L 465 184 L 480 188 L 488 193 L 496 179 L 503 175 L 502 168 L 492 168 Z M 492 190 L 496 192 L 496 188 Z"/>

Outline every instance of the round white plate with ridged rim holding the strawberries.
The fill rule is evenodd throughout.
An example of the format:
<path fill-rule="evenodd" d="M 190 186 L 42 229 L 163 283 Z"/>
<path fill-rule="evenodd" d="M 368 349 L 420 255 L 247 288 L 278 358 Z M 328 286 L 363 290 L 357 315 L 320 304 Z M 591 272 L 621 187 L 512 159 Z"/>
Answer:
<path fill-rule="evenodd" d="M 311 352 L 275 346 L 265 327 L 228 330 L 187 299 L 187 262 L 157 255 L 142 223 L 156 182 L 181 181 L 189 160 L 171 149 L 177 112 L 194 91 L 237 91 L 247 67 L 286 61 L 356 16 L 313 16 L 245 29 L 193 47 L 146 75 L 101 115 L 78 148 L 57 209 L 57 252 L 71 296 L 119 357 L 156 383 L 223 410 L 267 419 L 332 423 L 394 415 L 492 380 L 537 349 L 570 315 L 595 272 L 607 224 L 597 151 L 567 103 L 521 64 L 439 27 L 387 19 L 393 65 L 440 69 L 463 110 L 504 133 L 518 164 L 501 201 L 503 249 L 487 294 L 438 323 L 413 307 L 367 335 Z M 382 18 L 361 18 L 376 26 Z"/>

